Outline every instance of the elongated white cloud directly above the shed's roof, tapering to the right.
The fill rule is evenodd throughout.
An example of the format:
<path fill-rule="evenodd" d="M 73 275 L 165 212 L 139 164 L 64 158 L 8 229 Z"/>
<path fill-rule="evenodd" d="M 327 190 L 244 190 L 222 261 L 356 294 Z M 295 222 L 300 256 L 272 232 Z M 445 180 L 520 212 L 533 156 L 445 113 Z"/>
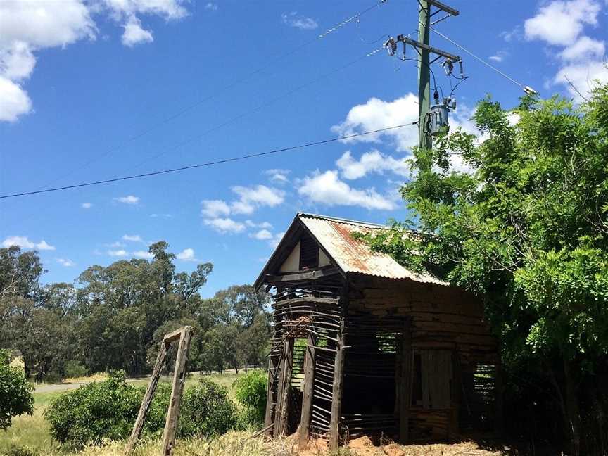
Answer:
<path fill-rule="evenodd" d="M 308 197 L 313 203 L 323 205 L 360 206 L 366 209 L 395 209 L 390 198 L 382 196 L 375 189 L 353 189 L 338 178 L 337 171 L 315 172 L 305 177 L 298 193 Z"/>

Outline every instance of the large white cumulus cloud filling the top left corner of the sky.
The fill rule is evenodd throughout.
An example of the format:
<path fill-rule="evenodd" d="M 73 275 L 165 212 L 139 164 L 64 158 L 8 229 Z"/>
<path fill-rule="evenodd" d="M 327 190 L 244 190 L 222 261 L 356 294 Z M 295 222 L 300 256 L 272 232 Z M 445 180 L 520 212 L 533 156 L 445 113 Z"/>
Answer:
<path fill-rule="evenodd" d="M 32 75 L 35 53 L 95 39 L 94 15 L 107 15 L 125 28 L 122 42 L 134 46 L 153 40 L 140 15 L 183 18 L 186 0 L 7 0 L 0 1 L 0 121 L 14 122 L 32 111 L 23 82 Z"/>

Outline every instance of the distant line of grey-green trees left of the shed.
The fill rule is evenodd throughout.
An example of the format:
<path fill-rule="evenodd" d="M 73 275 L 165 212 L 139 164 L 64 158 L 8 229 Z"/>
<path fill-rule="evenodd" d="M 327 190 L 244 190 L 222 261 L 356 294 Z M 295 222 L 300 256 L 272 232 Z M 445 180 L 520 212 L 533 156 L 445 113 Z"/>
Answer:
<path fill-rule="evenodd" d="M 235 285 L 201 298 L 213 265 L 176 272 L 167 248 L 153 243 L 151 260 L 94 265 L 74 284 L 46 285 L 36 251 L 0 248 L 0 348 L 18 350 L 26 374 L 42 380 L 110 369 L 138 375 L 151 368 L 164 334 L 188 324 L 189 369 L 260 365 L 270 334 L 267 294 Z"/>

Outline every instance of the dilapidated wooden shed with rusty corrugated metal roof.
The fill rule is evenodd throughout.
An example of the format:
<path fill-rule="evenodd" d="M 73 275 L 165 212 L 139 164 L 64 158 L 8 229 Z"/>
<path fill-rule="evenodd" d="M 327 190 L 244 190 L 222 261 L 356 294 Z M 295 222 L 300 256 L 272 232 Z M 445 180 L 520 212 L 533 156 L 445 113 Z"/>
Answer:
<path fill-rule="evenodd" d="M 331 448 L 491 431 L 498 341 L 469 293 L 374 253 L 381 225 L 298 213 L 255 282 L 273 293 L 266 427 Z"/>

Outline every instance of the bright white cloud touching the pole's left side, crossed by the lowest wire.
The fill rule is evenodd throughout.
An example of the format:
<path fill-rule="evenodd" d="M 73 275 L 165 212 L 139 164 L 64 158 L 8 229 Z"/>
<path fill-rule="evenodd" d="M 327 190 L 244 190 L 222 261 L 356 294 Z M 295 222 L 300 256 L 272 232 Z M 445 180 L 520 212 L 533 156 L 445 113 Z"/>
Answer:
<path fill-rule="evenodd" d="M 353 106 L 346 120 L 331 127 L 331 131 L 346 136 L 364 131 L 405 125 L 418 118 L 418 96 L 411 92 L 394 101 L 371 98 L 366 103 Z M 386 132 L 366 134 L 365 136 L 343 139 L 345 144 L 355 142 L 380 142 L 382 136 L 395 141 L 398 151 L 407 151 L 418 142 L 418 129 L 415 125 L 387 130 Z"/>

